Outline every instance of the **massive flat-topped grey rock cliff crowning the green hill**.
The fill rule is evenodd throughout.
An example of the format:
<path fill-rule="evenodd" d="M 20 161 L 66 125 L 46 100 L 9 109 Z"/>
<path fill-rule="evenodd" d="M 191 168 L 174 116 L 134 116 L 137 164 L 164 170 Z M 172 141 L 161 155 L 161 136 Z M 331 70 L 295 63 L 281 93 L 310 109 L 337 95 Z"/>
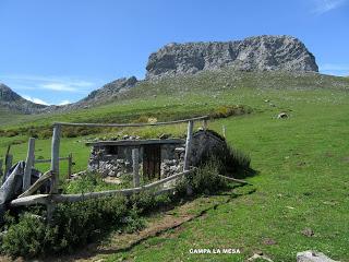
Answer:
<path fill-rule="evenodd" d="M 291 36 L 256 36 L 236 41 L 169 44 L 149 56 L 146 79 L 232 67 L 243 71 L 317 72 L 314 56 Z"/>

